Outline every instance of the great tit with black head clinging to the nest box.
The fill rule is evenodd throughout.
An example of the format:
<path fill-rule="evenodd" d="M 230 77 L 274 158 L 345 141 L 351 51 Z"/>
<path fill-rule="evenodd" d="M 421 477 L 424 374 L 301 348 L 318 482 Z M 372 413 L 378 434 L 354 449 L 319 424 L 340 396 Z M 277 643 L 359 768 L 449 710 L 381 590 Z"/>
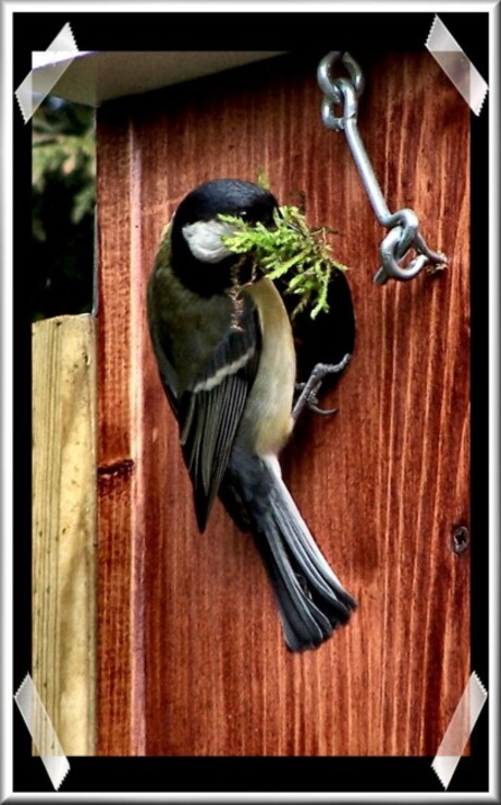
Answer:
<path fill-rule="evenodd" d="M 223 243 L 220 214 L 273 226 L 274 196 L 236 179 L 209 181 L 178 206 L 148 284 L 148 319 L 160 379 L 179 422 L 204 531 L 219 495 L 250 530 L 293 651 L 316 648 L 355 601 L 304 522 L 278 455 L 293 428 L 296 361 L 274 285 L 252 255 Z"/>

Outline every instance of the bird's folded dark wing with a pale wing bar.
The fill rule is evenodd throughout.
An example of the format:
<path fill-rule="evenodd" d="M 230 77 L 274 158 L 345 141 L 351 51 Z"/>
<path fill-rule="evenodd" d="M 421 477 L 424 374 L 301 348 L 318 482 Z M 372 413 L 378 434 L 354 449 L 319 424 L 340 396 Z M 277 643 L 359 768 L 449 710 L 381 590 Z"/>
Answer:
<path fill-rule="evenodd" d="M 201 531 L 228 467 L 259 351 L 257 310 L 250 297 L 243 295 L 237 324 L 230 327 L 212 359 L 178 401 L 181 445 Z"/>

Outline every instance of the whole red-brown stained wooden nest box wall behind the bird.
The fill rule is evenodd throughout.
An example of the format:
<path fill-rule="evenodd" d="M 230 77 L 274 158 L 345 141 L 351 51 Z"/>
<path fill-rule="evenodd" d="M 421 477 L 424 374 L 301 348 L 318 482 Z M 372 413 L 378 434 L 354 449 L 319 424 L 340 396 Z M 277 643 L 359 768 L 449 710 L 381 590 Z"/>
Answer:
<path fill-rule="evenodd" d="M 428 53 L 361 59 L 359 128 L 392 211 L 413 207 L 450 266 L 372 285 L 384 235 L 317 60 L 283 57 L 98 116 L 100 206 L 99 750 L 432 755 L 469 676 L 469 115 Z M 355 356 L 305 417 L 284 477 L 359 606 L 290 653 L 248 536 L 218 503 L 197 532 L 144 315 L 164 224 L 210 178 L 307 200 L 351 267 Z M 124 462 L 130 471 L 123 472 Z M 107 467 L 115 467 L 117 474 Z"/>

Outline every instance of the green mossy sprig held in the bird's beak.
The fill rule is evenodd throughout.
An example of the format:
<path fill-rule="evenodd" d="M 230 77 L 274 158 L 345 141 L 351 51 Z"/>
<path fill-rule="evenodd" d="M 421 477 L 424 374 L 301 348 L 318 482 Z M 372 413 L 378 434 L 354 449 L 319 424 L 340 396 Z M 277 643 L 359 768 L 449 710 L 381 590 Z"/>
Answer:
<path fill-rule="evenodd" d="M 255 265 L 270 279 L 285 279 L 289 275 L 285 292 L 300 297 L 292 316 L 306 308 L 310 308 L 311 319 L 320 311 L 328 312 L 327 296 L 332 274 L 346 271 L 346 266 L 332 257 L 327 242 L 331 230 L 327 227 L 311 229 L 298 207 L 286 205 L 273 212 L 272 229 L 237 216 L 220 215 L 219 218 L 233 228 L 222 238 L 230 251 L 234 254 L 250 253 Z"/>

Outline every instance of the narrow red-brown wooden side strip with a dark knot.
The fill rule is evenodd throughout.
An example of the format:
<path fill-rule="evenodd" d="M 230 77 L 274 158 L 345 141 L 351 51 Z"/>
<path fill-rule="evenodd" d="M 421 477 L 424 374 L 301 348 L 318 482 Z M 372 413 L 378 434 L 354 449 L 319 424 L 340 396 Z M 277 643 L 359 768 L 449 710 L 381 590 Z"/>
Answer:
<path fill-rule="evenodd" d="M 98 129 L 98 752 L 144 752 L 140 363 L 143 309 L 134 251 L 140 176 L 126 117 Z"/>

